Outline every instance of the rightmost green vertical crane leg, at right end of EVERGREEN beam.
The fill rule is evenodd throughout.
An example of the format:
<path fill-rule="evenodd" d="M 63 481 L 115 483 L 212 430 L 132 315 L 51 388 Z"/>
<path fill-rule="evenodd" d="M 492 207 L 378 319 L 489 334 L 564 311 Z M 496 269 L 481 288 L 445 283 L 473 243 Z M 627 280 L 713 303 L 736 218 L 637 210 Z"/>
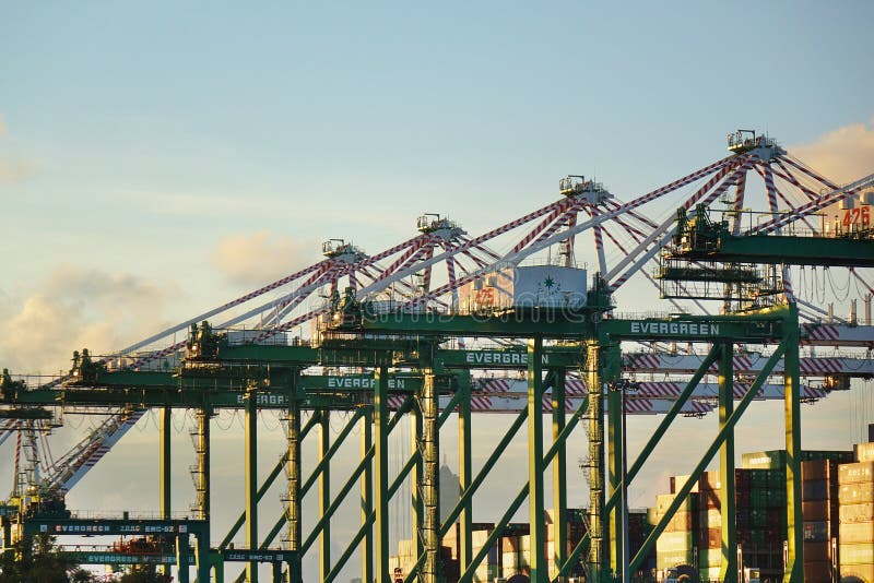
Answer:
<path fill-rule="evenodd" d="M 787 564 L 784 583 L 804 581 L 804 528 L 801 508 L 801 386 L 799 384 L 799 325 L 798 306 L 789 305 L 792 325 L 786 326 L 783 382 L 783 411 L 786 415 L 786 510 L 787 510 Z"/>

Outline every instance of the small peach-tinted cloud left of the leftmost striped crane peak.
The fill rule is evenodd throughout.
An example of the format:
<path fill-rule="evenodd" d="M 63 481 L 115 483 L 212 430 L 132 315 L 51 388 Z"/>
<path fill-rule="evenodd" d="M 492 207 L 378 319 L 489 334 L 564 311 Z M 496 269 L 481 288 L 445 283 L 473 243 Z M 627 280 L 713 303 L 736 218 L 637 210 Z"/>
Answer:
<path fill-rule="evenodd" d="M 220 240 L 212 262 L 229 283 L 260 286 L 319 260 L 316 241 L 275 237 L 270 230 L 231 235 Z"/>

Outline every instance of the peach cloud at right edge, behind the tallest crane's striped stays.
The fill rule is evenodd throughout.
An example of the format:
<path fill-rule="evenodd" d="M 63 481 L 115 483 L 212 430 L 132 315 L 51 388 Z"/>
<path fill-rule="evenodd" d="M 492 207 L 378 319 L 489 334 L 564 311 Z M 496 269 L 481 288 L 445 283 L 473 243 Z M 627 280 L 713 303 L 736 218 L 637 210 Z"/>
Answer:
<path fill-rule="evenodd" d="M 838 128 L 789 152 L 827 178 L 852 182 L 874 172 L 874 119 Z"/>

